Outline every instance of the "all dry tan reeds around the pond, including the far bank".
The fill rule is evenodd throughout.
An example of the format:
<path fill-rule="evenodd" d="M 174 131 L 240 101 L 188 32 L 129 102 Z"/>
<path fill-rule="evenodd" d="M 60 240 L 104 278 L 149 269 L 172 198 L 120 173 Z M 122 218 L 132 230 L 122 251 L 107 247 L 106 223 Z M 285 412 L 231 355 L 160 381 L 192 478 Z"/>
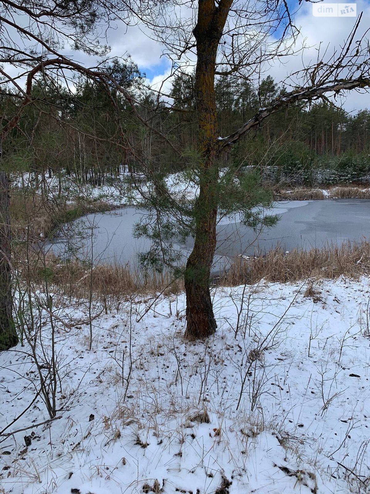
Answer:
<path fill-rule="evenodd" d="M 289 194 L 289 199 L 323 199 L 321 190 L 300 189 Z M 309 194 L 308 194 L 309 193 Z M 321 194 L 321 195 L 320 195 Z M 281 196 L 279 196 L 281 199 Z M 333 187 L 330 197 L 370 199 L 370 190 L 360 187 Z M 55 229 L 58 222 L 67 218 L 74 219 L 76 214 L 107 209 L 103 203 L 87 205 L 58 206 L 52 211 L 39 196 L 21 196 L 13 194 L 11 215 L 15 240 L 14 266 L 20 279 L 26 283 L 42 284 L 45 278 L 64 294 L 74 298 L 86 298 L 92 290 L 97 299 L 120 299 L 136 293 L 163 292 L 166 295 L 179 293 L 184 289 L 183 280 L 173 281 L 169 274 L 147 273 L 143 276 L 137 267 L 121 265 L 91 266 L 78 262 L 63 262 L 52 254 L 43 257 L 42 253 L 30 246 L 40 237 Z M 69 213 L 72 211 L 72 213 Z M 25 245 L 27 244 L 27 245 Z M 27 250 L 28 248 L 28 250 Z M 28 258 L 28 262 L 25 259 Z M 329 245 L 309 251 L 294 250 L 285 254 L 282 248 L 276 248 L 267 255 L 250 259 L 237 259 L 226 275 L 219 281 L 224 286 L 243 283 L 254 284 L 261 279 L 272 282 L 292 282 L 310 276 L 337 278 L 341 275 L 358 278 L 370 274 L 370 244 L 348 242 L 342 246 Z"/>

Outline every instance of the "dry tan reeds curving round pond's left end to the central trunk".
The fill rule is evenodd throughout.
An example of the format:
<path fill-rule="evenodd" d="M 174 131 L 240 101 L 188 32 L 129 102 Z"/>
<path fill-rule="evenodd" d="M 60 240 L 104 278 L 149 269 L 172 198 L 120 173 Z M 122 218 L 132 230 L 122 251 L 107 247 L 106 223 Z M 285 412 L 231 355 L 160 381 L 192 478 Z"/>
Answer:
<path fill-rule="evenodd" d="M 84 299 L 90 291 L 95 300 L 105 305 L 135 293 L 165 294 L 183 290 L 182 281 L 173 281 L 170 275 L 139 273 L 134 266 L 119 264 L 91 265 L 74 260 L 61 261 L 52 253 L 42 253 L 38 246 L 40 240 L 51 237 L 68 221 L 83 214 L 107 211 L 111 207 L 103 201 L 88 202 L 46 200 L 39 194 L 24 194 L 24 191 L 12 191 L 11 225 L 13 237 L 13 265 L 20 280 L 26 284 L 42 286 L 45 280 L 58 291 L 69 297 Z M 112 302 L 113 303 L 113 302 Z"/>

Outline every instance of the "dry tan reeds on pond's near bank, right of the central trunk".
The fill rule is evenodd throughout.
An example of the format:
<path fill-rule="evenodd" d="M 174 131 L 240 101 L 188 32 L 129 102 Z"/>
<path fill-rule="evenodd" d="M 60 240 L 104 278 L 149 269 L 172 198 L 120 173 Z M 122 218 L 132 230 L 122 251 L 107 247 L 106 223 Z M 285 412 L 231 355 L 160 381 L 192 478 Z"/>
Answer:
<path fill-rule="evenodd" d="M 265 256 L 238 258 L 222 278 L 223 286 L 254 284 L 261 279 L 271 282 L 294 282 L 311 276 L 321 278 L 358 278 L 370 274 L 370 243 L 347 242 L 308 251 L 285 253 L 278 247 Z"/>

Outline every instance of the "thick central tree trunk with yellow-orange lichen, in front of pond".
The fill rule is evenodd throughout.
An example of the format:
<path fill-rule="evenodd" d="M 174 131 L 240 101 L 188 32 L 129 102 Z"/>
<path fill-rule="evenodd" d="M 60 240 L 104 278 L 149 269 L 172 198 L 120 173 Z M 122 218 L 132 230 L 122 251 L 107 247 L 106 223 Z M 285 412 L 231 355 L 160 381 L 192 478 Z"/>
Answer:
<path fill-rule="evenodd" d="M 215 70 L 218 45 L 231 1 L 199 0 L 194 28 L 197 43 L 195 103 L 198 118 L 199 196 L 195 205 L 194 248 L 185 269 L 186 331 L 188 339 L 205 338 L 217 324 L 209 289 L 216 247 L 218 206 L 218 141 Z"/>

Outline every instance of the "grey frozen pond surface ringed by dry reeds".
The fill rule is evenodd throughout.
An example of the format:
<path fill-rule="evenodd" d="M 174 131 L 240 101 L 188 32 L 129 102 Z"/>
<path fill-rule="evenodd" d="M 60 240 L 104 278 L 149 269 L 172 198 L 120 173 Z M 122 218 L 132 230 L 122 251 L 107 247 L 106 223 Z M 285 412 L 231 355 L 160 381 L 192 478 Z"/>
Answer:
<path fill-rule="evenodd" d="M 370 239 L 370 201 L 326 200 L 275 203 L 268 214 L 278 214 L 280 220 L 256 235 L 242 225 L 237 217 L 222 218 L 218 224 L 218 240 L 214 272 L 229 264 L 237 255 L 265 253 L 281 246 L 285 250 L 323 247 L 328 243 Z M 125 207 L 106 213 L 89 214 L 67 226 L 66 236 L 55 239 L 51 248 L 61 257 L 77 255 L 98 262 L 135 264 L 136 254 L 148 250 L 149 242 L 134 239 L 133 226 L 143 213 Z M 186 255 L 192 239 L 178 248 Z"/>

